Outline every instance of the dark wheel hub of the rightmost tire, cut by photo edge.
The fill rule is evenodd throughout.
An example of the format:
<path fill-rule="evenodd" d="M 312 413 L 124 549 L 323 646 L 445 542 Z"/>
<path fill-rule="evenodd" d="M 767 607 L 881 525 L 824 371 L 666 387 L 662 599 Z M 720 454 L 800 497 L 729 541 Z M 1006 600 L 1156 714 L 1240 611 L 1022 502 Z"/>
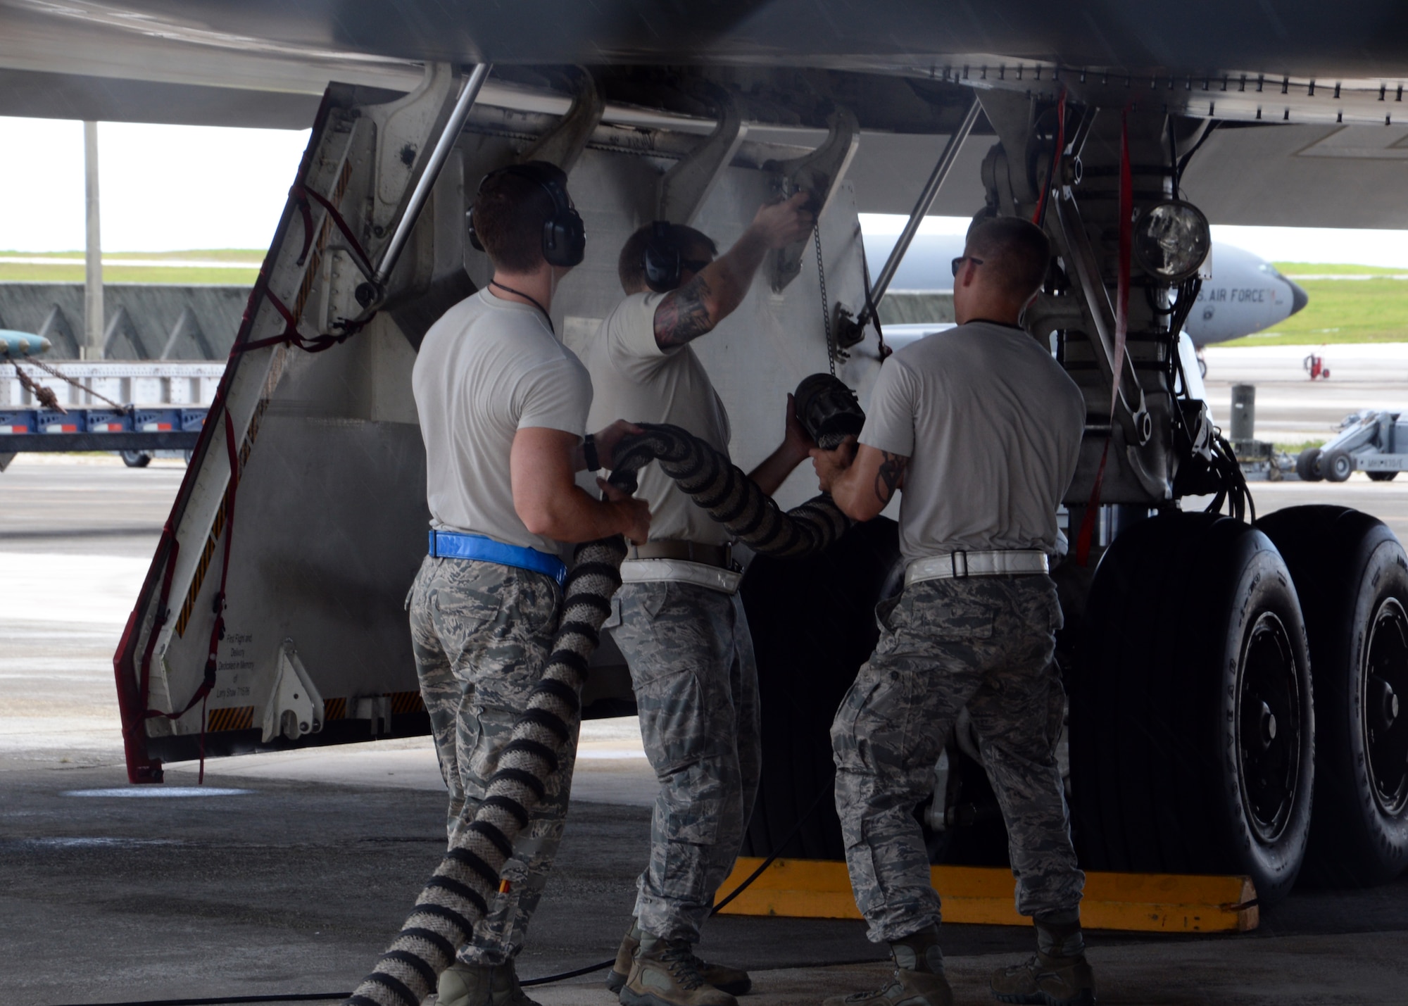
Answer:
<path fill-rule="evenodd" d="M 1408 809 L 1408 721 L 1398 695 L 1408 689 L 1408 614 L 1388 597 L 1374 614 L 1360 696 L 1369 779 L 1380 810 L 1397 817 Z"/>

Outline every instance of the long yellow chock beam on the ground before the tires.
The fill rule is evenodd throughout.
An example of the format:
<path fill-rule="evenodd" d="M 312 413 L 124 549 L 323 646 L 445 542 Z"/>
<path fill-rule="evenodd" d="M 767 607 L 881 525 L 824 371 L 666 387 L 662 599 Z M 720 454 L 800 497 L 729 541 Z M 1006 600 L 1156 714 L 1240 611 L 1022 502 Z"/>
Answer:
<path fill-rule="evenodd" d="M 718 898 L 729 893 L 762 859 L 739 858 Z M 943 898 L 943 920 L 1029 926 L 1017 914 L 1012 872 L 1000 867 L 932 867 Z M 846 864 L 777 859 L 722 914 L 793 919 L 859 919 Z M 1247 876 L 1184 874 L 1086 874 L 1080 906 L 1086 929 L 1139 933 L 1246 933 L 1257 927 L 1256 888 Z"/>

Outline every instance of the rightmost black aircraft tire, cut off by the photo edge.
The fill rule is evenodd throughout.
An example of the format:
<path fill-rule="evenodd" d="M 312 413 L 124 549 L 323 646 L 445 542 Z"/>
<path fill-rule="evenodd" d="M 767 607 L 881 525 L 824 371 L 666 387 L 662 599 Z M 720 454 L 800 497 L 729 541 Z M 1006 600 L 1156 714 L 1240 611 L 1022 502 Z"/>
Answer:
<path fill-rule="evenodd" d="M 1369 672 L 1387 671 L 1381 679 L 1408 702 L 1408 638 L 1394 638 L 1408 633 L 1408 557 L 1381 520 L 1347 507 L 1290 507 L 1257 527 L 1286 558 L 1311 644 L 1316 755 L 1307 872 L 1336 885 L 1384 883 L 1408 868 L 1408 707 L 1374 744 Z M 1390 765 L 1376 766 L 1385 748 Z M 1393 795 L 1376 795 L 1376 783 Z"/>

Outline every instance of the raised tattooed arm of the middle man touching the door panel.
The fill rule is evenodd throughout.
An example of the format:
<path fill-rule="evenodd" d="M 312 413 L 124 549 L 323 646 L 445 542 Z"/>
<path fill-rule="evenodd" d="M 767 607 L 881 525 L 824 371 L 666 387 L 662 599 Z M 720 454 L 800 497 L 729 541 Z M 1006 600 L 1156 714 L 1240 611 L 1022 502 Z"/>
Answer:
<path fill-rule="evenodd" d="M 753 273 L 772 248 L 801 241 L 812 228 L 805 209 L 810 193 L 798 192 L 786 203 L 758 210 L 753 223 L 734 247 L 704 266 L 655 309 L 655 342 L 673 349 L 698 338 L 732 314 L 753 282 Z"/>

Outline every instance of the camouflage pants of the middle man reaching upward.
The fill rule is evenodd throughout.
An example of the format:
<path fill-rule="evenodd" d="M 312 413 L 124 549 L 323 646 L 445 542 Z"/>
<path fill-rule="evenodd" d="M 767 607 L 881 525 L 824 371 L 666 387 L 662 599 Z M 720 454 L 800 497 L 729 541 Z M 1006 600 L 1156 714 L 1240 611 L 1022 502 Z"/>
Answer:
<path fill-rule="evenodd" d="M 696 943 L 758 799 L 753 640 L 736 596 L 691 583 L 627 583 L 612 607 L 660 781 L 635 914 L 646 933 Z"/>

